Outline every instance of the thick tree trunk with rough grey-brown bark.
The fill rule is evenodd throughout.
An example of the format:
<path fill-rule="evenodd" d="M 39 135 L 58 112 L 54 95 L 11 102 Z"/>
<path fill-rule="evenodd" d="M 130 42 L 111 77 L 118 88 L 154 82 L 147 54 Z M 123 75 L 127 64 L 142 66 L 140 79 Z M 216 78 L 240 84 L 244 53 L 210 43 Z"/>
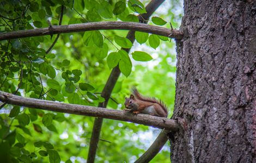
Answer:
<path fill-rule="evenodd" d="M 256 162 L 256 2 L 184 2 L 172 162 Z"/>

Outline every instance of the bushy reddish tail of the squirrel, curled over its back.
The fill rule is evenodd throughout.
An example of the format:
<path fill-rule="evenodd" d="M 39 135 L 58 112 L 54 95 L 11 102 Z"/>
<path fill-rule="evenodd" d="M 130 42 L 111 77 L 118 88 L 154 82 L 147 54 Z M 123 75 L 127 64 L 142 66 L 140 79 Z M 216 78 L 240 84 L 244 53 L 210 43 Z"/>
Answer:
<path fill-rule="evenodd" d="M 137 99 L 139 99 L 141 101 L 147 101 L 147 102 L 159 104 L 163 108 L 164 112 L 166 112 L 166 114 L 168 114 L 167 107 L 166 107 L 166 105 L 161 100 L 158 101 L 154 97 L 151 98 L 151 97 L 142 96 L 141 93 L 139 93 L 139 91 L 136 89 L 136 87 L 132 87 L 132 93 L 134 94 L 134 96 Z"/>

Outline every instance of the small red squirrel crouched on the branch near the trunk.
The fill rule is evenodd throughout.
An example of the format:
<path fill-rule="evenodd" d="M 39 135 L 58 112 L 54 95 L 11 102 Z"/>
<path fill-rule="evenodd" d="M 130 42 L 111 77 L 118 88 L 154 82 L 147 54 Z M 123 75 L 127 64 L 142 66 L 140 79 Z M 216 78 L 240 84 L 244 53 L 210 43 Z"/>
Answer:
<path fill-rule="evenodd" d="M 136 87 L 133 87 L 130 98 L 125 97 L 126 111 L 132 111 L 133 114 L 143 113 L 159 117 L 167 117 L 167 107 L 157 99 L 142 96 Z"/>

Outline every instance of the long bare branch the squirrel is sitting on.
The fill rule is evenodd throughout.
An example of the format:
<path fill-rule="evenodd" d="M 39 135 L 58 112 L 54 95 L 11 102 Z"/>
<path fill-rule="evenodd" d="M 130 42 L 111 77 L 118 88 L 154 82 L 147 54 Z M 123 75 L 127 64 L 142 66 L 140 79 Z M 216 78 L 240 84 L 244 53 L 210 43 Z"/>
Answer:
<path fill-rule="evenodd" d="M 2 91 L 0 91 L 0 101 L 28 108 L 65 112 L 68 114 L 102 117 L 112 120 L 144 124 L 146 126 L 153 126 L 156 128 L 166 128 L 174 131 L 179 129 L 178 123 L 175 120 L 169 120 L 168 118 L 145 114 L 138 114 L 134 116 L 129 112 L 122 110 L 98 108 L 95 106 L 86 105 L 65 104 L 35 98 L 27 98 Z"/>

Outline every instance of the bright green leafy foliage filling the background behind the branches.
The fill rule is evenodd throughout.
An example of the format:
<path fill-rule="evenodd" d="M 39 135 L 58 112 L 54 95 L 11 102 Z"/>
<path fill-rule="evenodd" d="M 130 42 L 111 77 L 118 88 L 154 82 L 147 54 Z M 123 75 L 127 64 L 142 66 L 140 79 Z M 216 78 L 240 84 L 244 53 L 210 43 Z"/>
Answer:
<path fill-rule="evenodd" d="M 137 15 L 145 13 L 143 3 L 138 0 L 2 1 L 0 32 L 47 28 L 47 20 L 58 25 L 62 5 L 62 24 L 138 22 Z M 178 27 L 171 10 L 152 18 L 152 22 L 160 25 L 163 24 L 160 17 L 172 17 L 173 26 Z M 133 45 L 125 38 L 126 34 L 127 31 L 116 30 L 61 34 L 50 53 L 46 51 L 56 35 L 1 41 L 0 90 L 49 101 L 96 106 L 105 101 L 99 92 L 111 69 L 119 66 L 122 75 L 107 108 L 123 109 L 120 104 L 135 85 L 145 95 L 161 98 L 172 110 L 175 89 L 171 75 L 175 73 L 175 55 L 170 55 L 169 49 L 173 48 L 173 42 L 163 42 L 168 41 L 167 37 L 136 32 L 135 38 L 141 46 Z M 160 40 L 166 48 L 155 51 L 153 48 L 159 47 Z M 132 50 L 128 54 L 120 47 L 132 47 Z M 87 159 L 94 118 L 15 105 L 5 105 L 0 113 L 0 160 L 84 162 Z M 97 161 L 135 161 L 155 139 L 156 134 L 150 141 L 144 136 L 153 131 L 157 130 L 105 120 Z M 158 154 L 153 162 L 169 162 L 168 150 Z"/>

